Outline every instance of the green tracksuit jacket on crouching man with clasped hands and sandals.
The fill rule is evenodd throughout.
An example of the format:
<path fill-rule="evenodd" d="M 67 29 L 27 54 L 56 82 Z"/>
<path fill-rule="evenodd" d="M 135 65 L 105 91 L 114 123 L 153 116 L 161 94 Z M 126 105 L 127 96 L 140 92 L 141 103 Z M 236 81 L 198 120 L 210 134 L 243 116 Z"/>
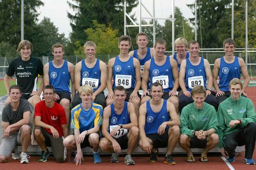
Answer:
<path fill-rule="evenodd" d="M 204 106 L 198 109 L 194 103 L 185 106 L 180 116 L 180 132 L 189 137 L 194 137 L 192 132 L 207 131 L 211 128 L 218 131 L 217 113 L 215 108 L 204 102 Z"/>

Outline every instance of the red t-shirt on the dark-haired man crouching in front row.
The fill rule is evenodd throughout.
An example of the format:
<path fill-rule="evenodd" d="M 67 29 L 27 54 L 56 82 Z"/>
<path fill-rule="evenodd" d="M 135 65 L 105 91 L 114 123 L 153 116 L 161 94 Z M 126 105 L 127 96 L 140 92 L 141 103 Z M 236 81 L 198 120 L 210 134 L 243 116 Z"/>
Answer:
<path fill-rule="evenodd" d="M 46 106 L 45 101 L 38 102 L 35 105 L 35 116 L 40 116 L 42 122 L 53 126 L 58 131 L 59 136 L 64 136 L 61 125 L 67 124 L 67 118 L 60 104 L 54 102 L 53 107 L 49 108 Z M 50 129 L 45 130 L 52 135 Z"/>

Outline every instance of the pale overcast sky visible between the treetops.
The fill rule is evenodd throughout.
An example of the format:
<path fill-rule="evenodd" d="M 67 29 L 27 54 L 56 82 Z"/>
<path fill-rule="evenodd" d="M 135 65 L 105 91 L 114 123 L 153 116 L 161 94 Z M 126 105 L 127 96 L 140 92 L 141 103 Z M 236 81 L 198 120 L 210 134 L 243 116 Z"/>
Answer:
<path fill-rule="evenodd" d="M 70 26 L 70 20 L 68 18 L 67 12 L 74 14 L 75 12 L 70 9 L 67 1 L 72 2 L 72 0 L 41 0 L 45 5 L 38 9 L 40 14 L 38 19 L 39 22 L 44 17 L 49 17 L 54 23 L 55 27 L 58 28 L 59 33 L 64 33 L 65 37 L 69 37 L 70 32 L 72 32 Z M 175 6 L 179 7 L 183 16 L 185 18 L 193 17 L 191 10 L 186 6 L 186 4 L 192 4 L 195 0 L 175 0 Z M 153 0 L 142 0 L 142 4 L 147 8 L 148 11 L 153 13 Z M 138 17 L 139 7 L 133 10 L 133 13 Z M 155 17 L 167 18 L 172 14 L 172 0 L 155 0 Z M 142 17 L 149 17 L 150 15 L 142 9 Z M 128 18 L 127 18 L 128 19 Z M 138 20 L 138 18 L 137 18 Z M 160 24 L 164 23 L 164 20 L 158 20 Z"/>

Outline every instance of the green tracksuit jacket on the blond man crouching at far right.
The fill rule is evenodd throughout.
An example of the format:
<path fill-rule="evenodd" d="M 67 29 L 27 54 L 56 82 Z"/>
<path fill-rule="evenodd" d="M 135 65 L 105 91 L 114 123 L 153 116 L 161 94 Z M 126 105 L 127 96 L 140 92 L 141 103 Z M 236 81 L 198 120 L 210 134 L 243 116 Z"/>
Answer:
<path fill-rule="evenodd" d="M 219 148 L 223 148 L 223 139 L 226 134 L 237 132 L 251 122 L 256 122 L 256 114 L 253 103 L 250 99 L 240 96 L 239 100 L 235 101 L 231 96 L 219 105 L 218 109 L 219 122 Z M 229 126 L 231 120 L 241 118 L 242 124 L 235 125 L 233 128 Z"/>

